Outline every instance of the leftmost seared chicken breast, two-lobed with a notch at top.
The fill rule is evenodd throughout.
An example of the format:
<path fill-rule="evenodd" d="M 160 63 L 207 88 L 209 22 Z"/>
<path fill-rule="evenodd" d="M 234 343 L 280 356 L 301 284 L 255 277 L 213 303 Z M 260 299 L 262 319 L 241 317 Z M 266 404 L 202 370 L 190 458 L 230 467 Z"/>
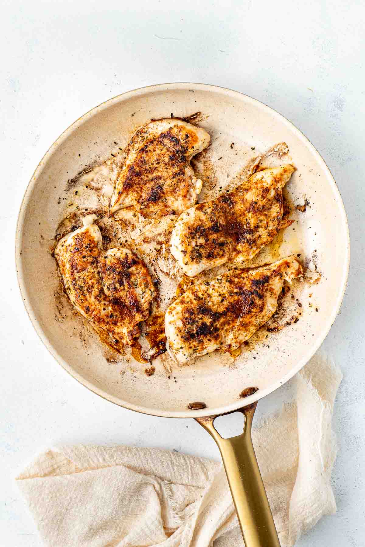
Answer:
<path fill-rule="evenodd" d="M 131 345 L 147 319 L 155 290 L 147 267 L 128 249 L 103 251 L 95 214 L 63 237 L 55 259 L 66 293 L 76 309 L 114 340 Z"/>

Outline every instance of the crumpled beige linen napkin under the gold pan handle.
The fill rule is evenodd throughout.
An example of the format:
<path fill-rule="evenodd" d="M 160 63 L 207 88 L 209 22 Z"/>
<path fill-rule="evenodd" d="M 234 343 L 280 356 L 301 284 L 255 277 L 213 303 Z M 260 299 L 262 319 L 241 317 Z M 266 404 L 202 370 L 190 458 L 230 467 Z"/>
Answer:
<path fill-rule="evenodd" d="M 341 373 L 316 354 L 296 398 L 253 430 L 282 547 L 335 512 L 331 428 Z M 244 545 L 222 464 L 167 450 L 64 446 L 18 476 L 39 533 L 53 547 Z"/>

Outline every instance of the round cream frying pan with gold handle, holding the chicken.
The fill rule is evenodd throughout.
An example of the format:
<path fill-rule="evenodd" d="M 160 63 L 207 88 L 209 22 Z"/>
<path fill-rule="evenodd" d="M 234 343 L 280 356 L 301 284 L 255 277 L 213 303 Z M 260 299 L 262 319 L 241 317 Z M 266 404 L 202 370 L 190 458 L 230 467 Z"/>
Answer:
<path fill-rule="evenodd" d="M 210 132 L 204 161 L 206 184 L 234 181 L 254 154 L 285 142 L 297 168 L 286 188 L 296 221 L 257 255 L 252 265 L 300 256 L 321 273 L 320 282 L 298 282 L 299 321 L 265 336 L 254 336 L 235 360 L 211 354 L 173 367 L 155 365 L 146 376 L 129 356 L 117 363 L 105 358 L 96 334 L 85 336 L 82 318 L 60 297 L 60 281 L 49 248 L 56 226 L 74 206 L 65 192 L 68 179 L 123 148 L 137 126 L 150 118 L 184 117 L 202 112 L 200 125 Z M 287 161 L 287 160 L 282 160 Z M 210 174 L 208 174 L 210 173 Z M 84 197 L 87 197 L 85 189 Z M 203 193 L 201 199 L 209 194 Z M 304 205 L 306 211 L 296 209 Z M 302 210 L 304 207 L 301 207 Z M 155 416 L 192 417 L 218 444 L 246 547 L 279 546 L 251 441 L 257 401 L 296 374 L 327 335 L 344 296 L 350 243 L 338 188 L 320 154 L 306 137 L 271 108 L 217 86 L 161 84 L 129 91 L 90 110 L 51 146 L 26 190 L 16 234 L 16 266 L 22 298 L 34 328 L 55 359 L 79 382 L 115 404 Z M 289 322 L 290 323 L 290 322 Z M 262 330 L 262 329 L 261 329 Z M 87 337 L 87 343 L 85 339 Z M 242 435 L 223 439 L 215 417 L 241 411 Z"/>

